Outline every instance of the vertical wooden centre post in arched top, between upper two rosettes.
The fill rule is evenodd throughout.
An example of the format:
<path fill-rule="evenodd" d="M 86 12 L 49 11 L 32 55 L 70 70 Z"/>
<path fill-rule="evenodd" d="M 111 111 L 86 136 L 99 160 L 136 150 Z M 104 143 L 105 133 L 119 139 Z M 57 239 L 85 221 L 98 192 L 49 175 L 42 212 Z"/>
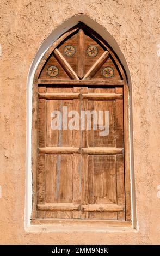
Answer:
<path fill-rule="evenodd" d="M 85 34 L 82 29 L 79 29 L 78 32 L 78 77 L 82 79 L 85 75 L 84 67 L 85 67 L 85 48 L 84 48 L 84 39 Z"/>

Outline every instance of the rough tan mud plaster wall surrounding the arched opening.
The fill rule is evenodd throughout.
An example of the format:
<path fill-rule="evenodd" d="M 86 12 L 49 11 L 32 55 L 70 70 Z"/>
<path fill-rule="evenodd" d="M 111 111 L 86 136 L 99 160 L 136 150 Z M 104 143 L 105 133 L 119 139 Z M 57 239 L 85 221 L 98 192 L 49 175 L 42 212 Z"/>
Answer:
<path fill-rule="evenodd" d="M 159 243 L 160 1 L 1 0 L 0 11 L 0 243 Z M 42 42 L 78 13 L 107 29 L 131 72 L 137 232 L 24 230 L 27 75 Z"/>

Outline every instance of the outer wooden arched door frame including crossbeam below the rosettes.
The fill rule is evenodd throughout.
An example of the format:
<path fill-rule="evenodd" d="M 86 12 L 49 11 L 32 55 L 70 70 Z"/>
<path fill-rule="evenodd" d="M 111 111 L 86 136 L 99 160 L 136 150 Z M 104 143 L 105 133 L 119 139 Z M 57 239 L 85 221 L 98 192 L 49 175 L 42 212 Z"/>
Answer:
<path fill-rule="evenodd" d="M 44 66 L 46 60 L 50 56 L 50 54 L 55 50 L 55 48 L 60 44 L 61 41 L 65 40 L 67 36 L 73 34 L 75 31 L 77 31 L 79 28 L 87 28 L 87 26 L 81 24 L 76 25 L 75 27 L 71 28 L 69 31 L 65 32 L 63 35 L 61 35 L 54 43 L 53 45 L 47 50 L 47 52 L 42 57 L 38 68 L 36 69 L 35 75 L 34 75 L 34 82 L 33 82 L 33 103 L 32 103 L 32 176 L 33 176 L 33 206 L 32 206 L 32 220 L 35 220 L 35 212 L 36 212 L 36 185 L 37 185 L 37 175 L 36 175 L 36 169 L 37 169 L 37 141 L 38 141 L 38 131 L 37 131 L 37 120 L 38 120 L 38 86 L 41 87 L 41 92 L 43 92 L 43 89 L 45 88 L 46 84 L 58 84 L 59 86 L 68 85 L 68 86 L 122 86 L 124 88 L 124 172 L 125 172 L 125 211 L 126 211 L 126 221 L 131 222 L 131 176 L 130 176 L 130 128 L 129 128 L 129 91 L 128 91 L 128 84 L 127 84 L 127 78 L 125 75 L 125 71 L 122 68 L 122 65 L 120 64 L 120 61 L 118 57 L 116 57 L 113 50 L 108 46 L 107 42 L 101 38 L 99 34 L 94 32 L 92 29 L 89 29 L 89 33 L 91 35 L 94 35 L 94 37 L 101 42 L 104 47 L 106 47 L 107 51 L 112 55 L 116 65 L 118 66 L 118 69 L 120 70 L 122 79 L 121 80 L 77 80 L 77 79 L 71 79 L 71 80 L 56 80 L 53 79 L 39 79 L 40 72 L 42 70 L 42 67 Z M 80 36 L 83 36 L 80 34 Z M 83 53 L 81 53 L 83 54 Z M 83 65 L 80 63 L 79 65 Z M 81 74 L 79 74 L 81 76 Z M 67 220 L 69 221 L 69 220 Z M 72 220 L 70 220 L 72 221 Z M 82 221 L 82 220 L 80 220 Z M 97 220 L 96 220 L 97 221 Z M 90 220 L 89 220 L 90 222 Z M 106 222 L 106 221 L 105 221 Z M 114 221 L 112 221 L 114 222 Z M 46 223 L 46 222 L 45 222 Z M 111 222 L 110 222 L 111 223 Z M 126 224 L 127 225 L 127 224 Z"/>

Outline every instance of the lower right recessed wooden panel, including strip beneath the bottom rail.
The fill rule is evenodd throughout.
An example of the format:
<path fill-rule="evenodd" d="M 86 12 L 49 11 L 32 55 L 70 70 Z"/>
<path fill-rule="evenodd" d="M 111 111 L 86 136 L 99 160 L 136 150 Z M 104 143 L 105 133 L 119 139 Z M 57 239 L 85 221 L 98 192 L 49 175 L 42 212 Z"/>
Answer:
<path fill-rule="evenodd" d="M 114 155 L 89 156 L 89 204 L 116 203 L 116 169 Z M 89 218 L 116 218 L 108 212 L 92 213 Z"/>

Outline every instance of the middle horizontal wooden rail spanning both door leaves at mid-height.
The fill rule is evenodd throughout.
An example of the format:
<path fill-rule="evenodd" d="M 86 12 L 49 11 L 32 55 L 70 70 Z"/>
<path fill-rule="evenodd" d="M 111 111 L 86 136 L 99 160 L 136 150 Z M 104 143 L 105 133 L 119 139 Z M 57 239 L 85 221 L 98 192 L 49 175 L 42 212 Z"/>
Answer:
<path fill-rule="evenodd" d="M 73 148 L 73 147 L 45 147 L 38 148 L 38 153 L 43 154 L 89 154 L 89 155 L 108 155 L 122 154 L 122 148 L 111 147 L 90 147 L 90 148 Z"/>

